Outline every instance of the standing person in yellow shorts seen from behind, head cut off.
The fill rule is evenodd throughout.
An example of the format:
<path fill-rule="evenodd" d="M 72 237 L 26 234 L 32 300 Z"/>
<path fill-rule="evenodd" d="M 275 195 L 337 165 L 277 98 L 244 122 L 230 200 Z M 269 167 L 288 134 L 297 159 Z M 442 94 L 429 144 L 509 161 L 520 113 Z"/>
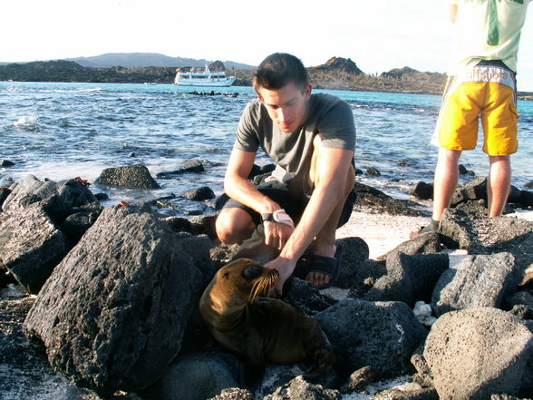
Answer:
<path fill-rule="evenodd" d="M 478 140 L 489 155 L 489 217 L 498 217 L 509 197 L 510 154 L 518 149 L 517 54 L 529 0 L 452 0 L 455 46 L 448 83 L 432 142 L 441 147 L 435 169 L 433 214 L 421 233 L 439 229 L 459 180 L 463 150 Z"/>

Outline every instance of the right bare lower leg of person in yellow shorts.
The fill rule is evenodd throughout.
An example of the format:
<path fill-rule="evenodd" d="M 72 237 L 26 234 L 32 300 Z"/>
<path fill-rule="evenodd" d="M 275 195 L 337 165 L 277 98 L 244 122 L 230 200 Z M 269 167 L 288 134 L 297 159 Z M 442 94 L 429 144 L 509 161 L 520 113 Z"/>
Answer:
<path fill-rule="evenodd" d="M 489 217 L 499 217 L 509 197 L 511 168 L 509 156 L 489 156 L 490 170 L 487 180 Z"/>

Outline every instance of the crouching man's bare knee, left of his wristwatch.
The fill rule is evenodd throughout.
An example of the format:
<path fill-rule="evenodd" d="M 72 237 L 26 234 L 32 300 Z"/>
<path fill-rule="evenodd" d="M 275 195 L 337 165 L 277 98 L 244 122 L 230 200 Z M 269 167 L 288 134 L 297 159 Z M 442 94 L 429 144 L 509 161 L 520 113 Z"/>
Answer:
<path fill-rule="evenodd" d="M 223 209 L 215 222 L 218 239 L 222 243 L 240 243 L 256 229 L 256 224 L 245 210 L 238 208 Z"/>

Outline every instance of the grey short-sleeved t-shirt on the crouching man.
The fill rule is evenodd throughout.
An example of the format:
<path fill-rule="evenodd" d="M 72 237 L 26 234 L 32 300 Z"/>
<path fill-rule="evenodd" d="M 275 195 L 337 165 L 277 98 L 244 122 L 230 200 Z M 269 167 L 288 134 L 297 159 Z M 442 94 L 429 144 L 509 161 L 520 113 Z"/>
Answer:
<path fill-rule="evenodd" d="M 354 114 L 350 106 L 330 94 L 312 94 L 307 118 L 296 132 L 287 133 L 273 122 L 259 99 L 247 103 L 237 129 L 234 147 L 256 152 L 261 147 L 277 164 L 273 177 L 288 182 L 292 190 L 304 189 L 316 133 L 325 147 L 355 151 Z"/>

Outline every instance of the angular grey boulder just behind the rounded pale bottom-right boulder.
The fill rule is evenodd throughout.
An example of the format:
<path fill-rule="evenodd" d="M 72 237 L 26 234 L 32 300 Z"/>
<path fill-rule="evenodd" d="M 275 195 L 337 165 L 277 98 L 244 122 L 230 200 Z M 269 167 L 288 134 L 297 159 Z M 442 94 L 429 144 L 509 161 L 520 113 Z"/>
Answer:
<path fill-rule="evenodd" d="M 432 294 L 437 317 L 470 307 L 500 307 L 514 293 L 521 274 L 509 253 L 466 256 L 442 273 Z"/>

